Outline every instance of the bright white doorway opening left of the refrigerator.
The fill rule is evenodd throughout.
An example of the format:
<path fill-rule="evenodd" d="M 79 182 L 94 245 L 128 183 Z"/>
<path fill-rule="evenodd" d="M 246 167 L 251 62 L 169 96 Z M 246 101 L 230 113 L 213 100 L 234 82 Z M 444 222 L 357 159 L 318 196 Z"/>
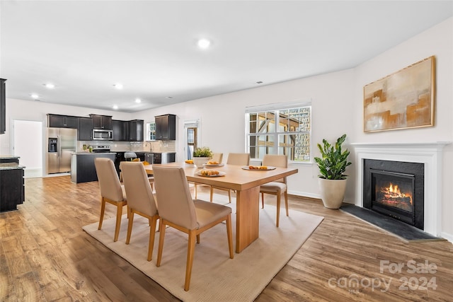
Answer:
<path fill-rule="evenodd" d="M 42 177 L 42 122 L 13 120 L 12 150 L 21 157 L 25 178 Z"/>

